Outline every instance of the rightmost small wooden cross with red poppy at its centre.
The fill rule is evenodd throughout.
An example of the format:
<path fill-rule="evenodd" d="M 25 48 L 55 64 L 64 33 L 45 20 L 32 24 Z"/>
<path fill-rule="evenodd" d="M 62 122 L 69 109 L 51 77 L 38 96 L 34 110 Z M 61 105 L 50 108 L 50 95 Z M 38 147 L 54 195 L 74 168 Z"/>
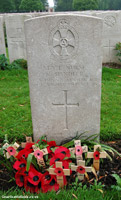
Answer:
<path fill-rule="evenodd" d="M 93 158 L 93 167 L 96 171 L 100 168 L 100 158 L 106 158 L 106 152 L 101 151 L 100 145 L 94 145 L 94 152 L 88 152 L 87 158 Z"/>

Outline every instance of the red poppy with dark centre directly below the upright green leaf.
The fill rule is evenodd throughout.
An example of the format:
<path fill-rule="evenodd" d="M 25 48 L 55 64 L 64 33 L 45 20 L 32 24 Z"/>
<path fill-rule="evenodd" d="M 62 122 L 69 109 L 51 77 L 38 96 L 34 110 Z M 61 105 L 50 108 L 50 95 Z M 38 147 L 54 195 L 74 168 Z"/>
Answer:
<path fill-rule="evenodd" d="M 28 173 L 28 181 L 33 185 L 38 185 L 41 181 L 42 174 L 38 172 L 34 167 L 31 166 L 29 173 Z"/>

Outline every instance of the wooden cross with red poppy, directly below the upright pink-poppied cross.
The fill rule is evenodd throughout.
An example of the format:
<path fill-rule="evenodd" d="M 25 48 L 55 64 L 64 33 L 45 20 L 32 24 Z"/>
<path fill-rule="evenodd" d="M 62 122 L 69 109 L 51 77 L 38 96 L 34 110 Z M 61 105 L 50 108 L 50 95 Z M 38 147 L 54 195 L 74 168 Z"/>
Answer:
<path fill-rule="evenodd" d="M 82 181 L 84 179 L 85 172 L 91 172 L 92 167 L 86 167 L 85 161 L 80 160 L 78 161 L 78 165 L 71 165 L 71 170 L 77 172 L 78 179 Z"/>

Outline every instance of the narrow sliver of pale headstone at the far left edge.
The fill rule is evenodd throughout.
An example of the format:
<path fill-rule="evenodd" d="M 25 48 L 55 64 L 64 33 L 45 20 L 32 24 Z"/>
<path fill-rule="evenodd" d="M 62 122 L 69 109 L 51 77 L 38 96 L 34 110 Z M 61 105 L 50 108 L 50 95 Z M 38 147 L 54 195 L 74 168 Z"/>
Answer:
<path fill-rule="evenodd" d="M 0 54 L 6 54 L 5 38 L 3 30 L 3 17 L 0 16 Z"/>

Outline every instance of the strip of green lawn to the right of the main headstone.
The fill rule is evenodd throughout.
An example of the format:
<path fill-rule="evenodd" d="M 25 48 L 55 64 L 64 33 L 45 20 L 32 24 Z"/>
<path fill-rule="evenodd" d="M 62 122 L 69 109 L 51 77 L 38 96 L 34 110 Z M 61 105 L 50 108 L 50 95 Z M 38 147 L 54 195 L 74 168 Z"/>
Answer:
<path fill-rule="evenodd" d="M 121 69 L 103 68 L 101 139 L 121 139 Z"/>

